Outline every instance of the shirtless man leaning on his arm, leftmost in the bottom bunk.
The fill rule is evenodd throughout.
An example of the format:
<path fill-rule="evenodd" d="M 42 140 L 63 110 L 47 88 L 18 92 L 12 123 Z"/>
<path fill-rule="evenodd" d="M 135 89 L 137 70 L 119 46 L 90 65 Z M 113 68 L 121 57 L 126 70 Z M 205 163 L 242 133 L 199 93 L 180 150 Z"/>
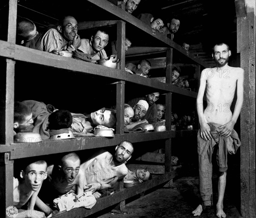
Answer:
<path fill-rule="evenodd" d="M 16 217 L 44 218 L 42 212 L 34 210 L 35 201 L 38 192 L 41 189 L 43 181 L 47 177 L 47 163 L 44 160 L 38 160 L 29 163 L 20 171 L 20 178 L 13 177 L 13 204 L 20 209 L 29 201 L 28 210 L 19 212 Z"/>

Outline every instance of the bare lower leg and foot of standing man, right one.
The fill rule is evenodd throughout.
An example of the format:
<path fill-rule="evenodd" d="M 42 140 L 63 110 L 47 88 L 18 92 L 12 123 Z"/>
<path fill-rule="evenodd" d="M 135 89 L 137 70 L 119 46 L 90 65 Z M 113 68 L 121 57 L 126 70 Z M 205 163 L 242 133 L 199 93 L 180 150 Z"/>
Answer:
<path fill-rule="evenodd" d="M 217 217 L 225 218 L 226 214 L 223 211 L 223 198 L 226 187 L 227 172 L 222 172 L 218 179 L 218 202 L 217 202 Z"/>

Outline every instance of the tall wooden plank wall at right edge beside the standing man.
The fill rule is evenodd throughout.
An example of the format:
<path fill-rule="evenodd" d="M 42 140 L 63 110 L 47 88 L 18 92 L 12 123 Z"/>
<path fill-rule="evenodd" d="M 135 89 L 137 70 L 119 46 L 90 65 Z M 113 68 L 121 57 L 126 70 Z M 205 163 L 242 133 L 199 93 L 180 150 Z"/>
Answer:
<path fill-rule="evenodd" d="M 255 177 L 255 1 L 235 0 L 237 52 L 244 69 L 244 104 L 241 110 L 241 215 L 256 218 Z"/>

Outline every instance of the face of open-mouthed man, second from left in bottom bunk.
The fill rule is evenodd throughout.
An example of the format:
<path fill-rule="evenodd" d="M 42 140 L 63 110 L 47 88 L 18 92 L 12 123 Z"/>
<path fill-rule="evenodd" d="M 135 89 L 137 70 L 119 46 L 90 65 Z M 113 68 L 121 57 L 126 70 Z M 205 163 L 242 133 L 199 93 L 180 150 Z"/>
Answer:
<path fill-rule="evenodd" d="M 73 183 L 80 169 L 80 160 L 66 159 L 62 163 L 64 180 L 67 183 Z"/>

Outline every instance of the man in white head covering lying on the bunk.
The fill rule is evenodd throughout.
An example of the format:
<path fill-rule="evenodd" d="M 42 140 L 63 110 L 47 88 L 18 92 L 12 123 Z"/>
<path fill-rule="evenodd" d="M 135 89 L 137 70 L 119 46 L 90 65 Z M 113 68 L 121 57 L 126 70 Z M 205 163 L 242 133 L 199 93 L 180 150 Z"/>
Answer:
<path fill-rule="evenodd" d="M 143 119 L 143 117 L 147 113 L 148 107 L 148 102 L 146 102 L 145 100 L 140 100 L 134 106 L 134 116 L 131 119 L 130 124 L 126 125 L 128 131 L 141 123 L 148 122 L 146 119 Z"/>

